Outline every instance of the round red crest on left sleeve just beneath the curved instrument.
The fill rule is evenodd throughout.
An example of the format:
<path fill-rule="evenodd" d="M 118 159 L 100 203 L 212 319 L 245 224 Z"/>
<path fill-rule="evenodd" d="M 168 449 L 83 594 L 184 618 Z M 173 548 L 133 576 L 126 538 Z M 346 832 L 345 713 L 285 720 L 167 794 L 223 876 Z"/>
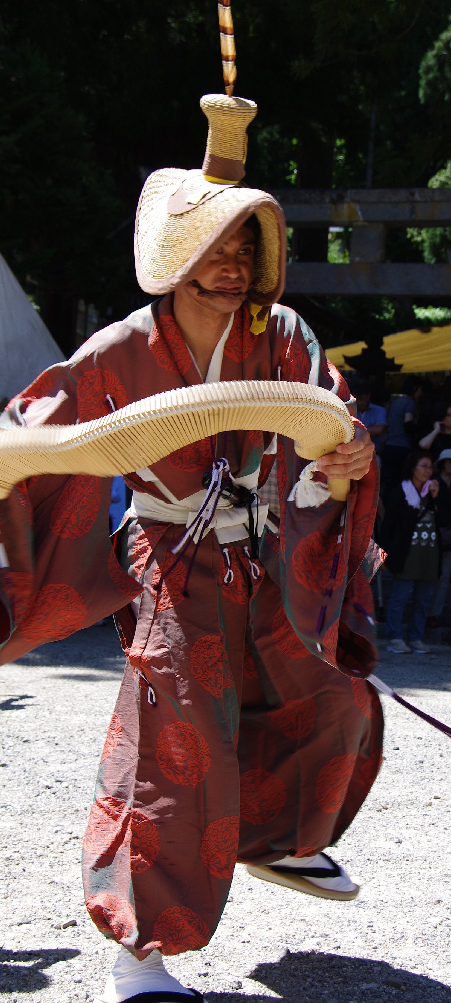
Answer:
<path fill-rule="evenodd" d="M 88 533 L 100 508 L 101 492 L 100 477 L 70 477 L 50 516 L 52 533 L 64 540 L 76 540 Z"/>

